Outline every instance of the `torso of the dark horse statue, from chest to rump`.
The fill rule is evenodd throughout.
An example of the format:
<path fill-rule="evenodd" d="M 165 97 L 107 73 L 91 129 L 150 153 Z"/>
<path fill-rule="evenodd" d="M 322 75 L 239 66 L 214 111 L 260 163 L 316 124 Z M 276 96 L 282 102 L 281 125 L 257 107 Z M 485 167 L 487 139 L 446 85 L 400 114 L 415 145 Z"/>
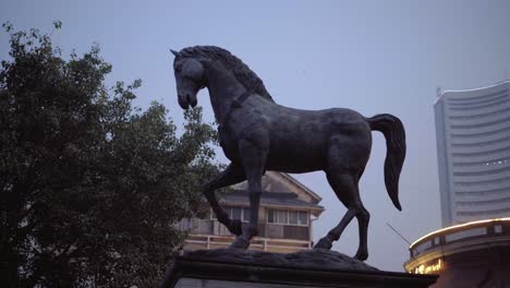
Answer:
<path fill-rule="evenodd" d="M 343 158 L 345 169 L 352 161 L 348 157 L 366 161 L 371 151 L 371 128 L 363 116 L 350 109 L 300 110 L 257 95 L 231 109 L 229 119 L 219 128 L 220 145 L 231 161 L 240 160 L 238 147 L 242 140 L 269 152 L 266 170 L 290 173 L 324 170 L 331 159 L 329 148 L 340 143 L 350 156 L 335 158 Z"/>

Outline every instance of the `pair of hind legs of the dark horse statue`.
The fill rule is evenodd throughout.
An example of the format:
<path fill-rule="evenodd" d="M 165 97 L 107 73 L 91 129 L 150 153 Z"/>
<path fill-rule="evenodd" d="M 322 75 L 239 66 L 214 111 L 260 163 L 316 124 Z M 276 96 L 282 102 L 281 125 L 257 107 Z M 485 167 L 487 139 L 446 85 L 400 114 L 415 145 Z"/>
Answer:
<path fill-rule="evenodd" d="M 360 199 L 357 176 L 328 172 L 328 181 L 337 196 L 347 206 L 348 212 L 340 223 L 331 229 L 327 236 L 321 238 L 314 248 L 331 249 L 332 242 L 340 239 L 340 236 L 352 218 L 357 217 L 360 225 L 360 248 L 356 253 L 356 259 L 366 260 L 368 256 L 366 247 L 368 215 Z"/>

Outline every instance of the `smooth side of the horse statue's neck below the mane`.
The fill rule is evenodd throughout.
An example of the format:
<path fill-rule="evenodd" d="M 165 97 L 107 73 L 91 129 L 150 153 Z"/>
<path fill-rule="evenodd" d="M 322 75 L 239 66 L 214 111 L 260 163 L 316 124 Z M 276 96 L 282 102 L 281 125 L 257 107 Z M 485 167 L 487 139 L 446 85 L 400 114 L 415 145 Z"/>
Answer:
<path fill-rule="evenodd" d="M 232 101 L 246 89 L 232 73 L 226 70 L 214 69 L 208 71 L 207 83 L 216 120 L 222 123 L 232 107 Z"/>

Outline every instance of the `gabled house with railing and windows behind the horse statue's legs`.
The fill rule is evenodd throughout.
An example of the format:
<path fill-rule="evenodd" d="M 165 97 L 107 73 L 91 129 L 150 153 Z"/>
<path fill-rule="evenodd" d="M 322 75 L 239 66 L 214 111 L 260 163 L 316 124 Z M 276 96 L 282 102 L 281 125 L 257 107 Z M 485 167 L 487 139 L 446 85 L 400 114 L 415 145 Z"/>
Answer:
<path fill-rule="evenodd" d="M 262 182 L 258 236 L 252 239 L 250 249 L 280 253 L 311 249 L 313 221 L 324 212 L 318 205 L 321 197 L 287 173 L 268 171 Z M 230 217 L 243 225 L 250 218 L 246 185 L 242 182 L 219 196 Z M 179 228 L 190 232 L 184 251 L 228 248 L 234 240 L 211 209 L 205 219 L 183 219 Z"/>

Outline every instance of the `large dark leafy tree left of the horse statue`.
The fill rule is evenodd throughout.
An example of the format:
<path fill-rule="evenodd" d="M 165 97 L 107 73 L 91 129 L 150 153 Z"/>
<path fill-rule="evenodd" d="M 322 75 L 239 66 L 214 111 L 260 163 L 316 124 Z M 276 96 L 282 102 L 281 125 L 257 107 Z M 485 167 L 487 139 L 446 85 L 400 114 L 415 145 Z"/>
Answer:
<path fill-rule="evenodd" d="M 105 85 L 99 48 L 69 60 L 37 29 L 10 34 L 0 70 L 2 287 L 154 287 L 201 207 L 212 128 L 201 109 L 181 136 L 141 85 Z M 54 27 L 60 28 L 56 22 Z"/>

